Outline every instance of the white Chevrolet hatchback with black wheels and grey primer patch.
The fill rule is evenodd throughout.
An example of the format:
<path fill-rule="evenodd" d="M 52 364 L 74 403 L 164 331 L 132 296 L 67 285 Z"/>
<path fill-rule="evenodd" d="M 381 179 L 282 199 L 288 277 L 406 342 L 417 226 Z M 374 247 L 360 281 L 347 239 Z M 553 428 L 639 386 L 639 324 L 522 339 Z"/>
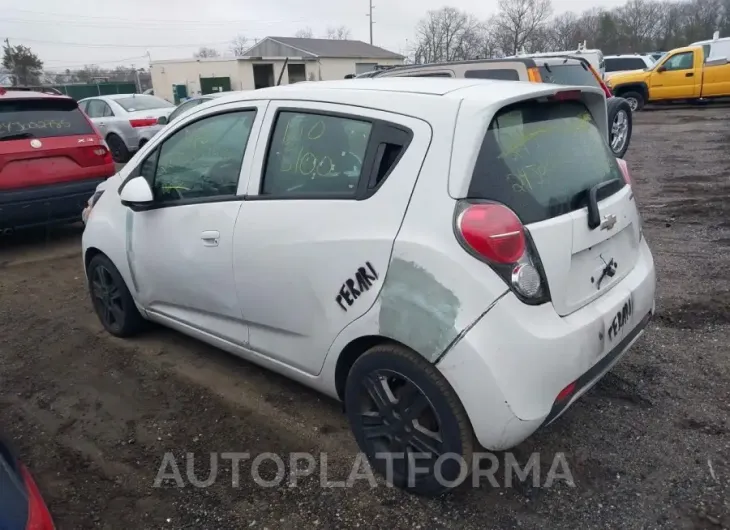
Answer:
<path fill-rule="evenodd" d="M 585 86 L 386 78 L 216 99 L 107 182 L 83 236 L 94 307 L 114 335 L 155 321 L 344 401 L 377 470 L 438 493 L 460 476 L 447 457 L 470 465 L 475 437 L 507 449 L 553 421 L 654 312 L 607 130 Z"/>

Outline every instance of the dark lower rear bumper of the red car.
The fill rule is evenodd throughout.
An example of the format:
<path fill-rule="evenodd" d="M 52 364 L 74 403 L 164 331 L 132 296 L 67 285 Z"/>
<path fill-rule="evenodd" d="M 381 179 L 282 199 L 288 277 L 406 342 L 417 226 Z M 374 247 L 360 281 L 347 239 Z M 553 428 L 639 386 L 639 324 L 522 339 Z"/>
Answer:
<path fill-rule="evenodd" d="M 0 191 L 0 230 L 81 220 L 81 212 L 107 177 Z"/>

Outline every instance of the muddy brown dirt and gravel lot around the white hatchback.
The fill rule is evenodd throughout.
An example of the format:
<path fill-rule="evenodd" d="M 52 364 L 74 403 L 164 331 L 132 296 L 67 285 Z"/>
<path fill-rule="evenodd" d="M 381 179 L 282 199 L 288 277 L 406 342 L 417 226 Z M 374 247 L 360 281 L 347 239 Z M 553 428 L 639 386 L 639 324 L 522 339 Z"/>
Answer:
<path fill-rule="evenodd" d="M 728 528 L 728 146 L 728 107 L 636 117 L 628 160 L 658 317 L 612 373 L 515 450 L 523 463 L 539 451 L 543 472 L 564 452 L 575 487 L 485 481 L 425 500 L 364 481 L 323 489 L 319 475 L 264 488 L 245 463 L 233 487 L 222 461 L 211 487 L 153 487 L 168 451 L 183 478 L 183 454 L 198 456 L 201 479 L 211 452 L 326 452 L 327 476 L 342 480 L 356 447 L 338 404 L 297 384 L 172 331 L 104 333 L 77 227 L 0 241 L 0 430 L 61 529 Z"/>

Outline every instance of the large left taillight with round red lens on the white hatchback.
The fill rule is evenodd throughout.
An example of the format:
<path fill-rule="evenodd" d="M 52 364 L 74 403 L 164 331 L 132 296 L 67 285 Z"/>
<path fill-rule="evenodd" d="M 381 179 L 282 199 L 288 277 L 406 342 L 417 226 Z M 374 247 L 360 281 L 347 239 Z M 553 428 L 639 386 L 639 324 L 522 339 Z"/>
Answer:
<path fill-rule="evenodd" d="M 520 299 L 531 304 L 548 300 L 537 253 L 512 210 L 498 203 L 462 201 L 455 225 L 464 249 L 490 265 Z"/>

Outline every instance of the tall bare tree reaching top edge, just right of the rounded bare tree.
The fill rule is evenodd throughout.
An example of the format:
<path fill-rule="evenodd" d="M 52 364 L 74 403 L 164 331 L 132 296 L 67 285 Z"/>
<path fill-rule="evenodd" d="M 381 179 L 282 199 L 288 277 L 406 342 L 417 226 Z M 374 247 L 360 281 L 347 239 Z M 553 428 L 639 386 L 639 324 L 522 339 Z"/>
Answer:
<path fill-rule="evenodd" d="M 506 55 L 539 51 L 551 13 L 550 0 L 499 0 L 494 25 L 502 51 Z"/>

